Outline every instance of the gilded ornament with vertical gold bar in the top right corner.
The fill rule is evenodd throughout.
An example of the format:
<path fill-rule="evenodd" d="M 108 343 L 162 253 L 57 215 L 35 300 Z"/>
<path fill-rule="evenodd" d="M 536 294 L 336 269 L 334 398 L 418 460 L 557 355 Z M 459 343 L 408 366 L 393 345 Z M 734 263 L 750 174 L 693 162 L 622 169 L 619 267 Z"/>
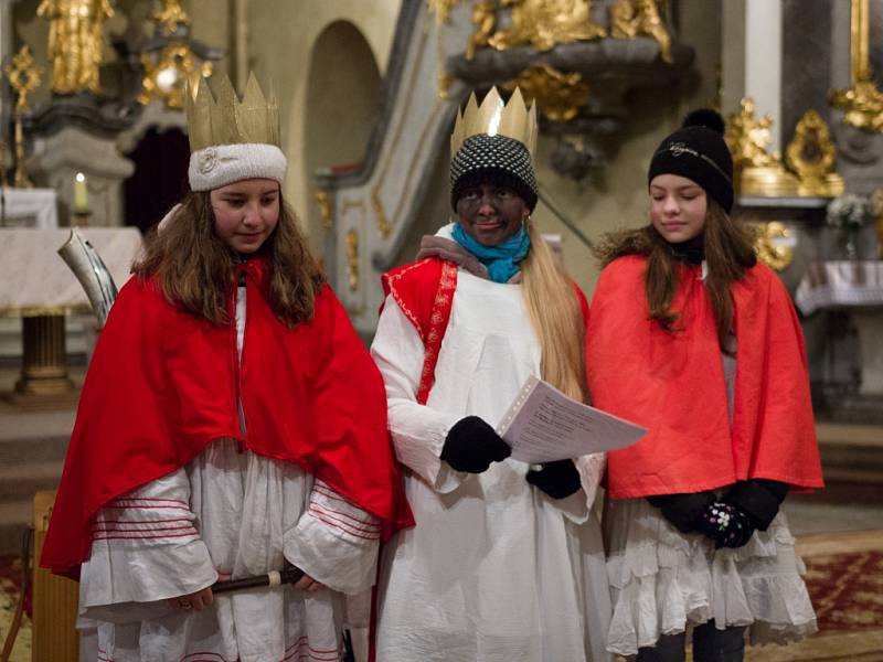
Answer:
<path fill-rule="evenodd" d="M 852 0 L 850 19 L 850 75 L 849 89 L 833 89 L 829 94 L 832 106 L 844 113 L 843 121 L 859 129 L 883 134 L 883 93 L 877 89 L 868 51 L 870 7 L 869 0 Z"/>

